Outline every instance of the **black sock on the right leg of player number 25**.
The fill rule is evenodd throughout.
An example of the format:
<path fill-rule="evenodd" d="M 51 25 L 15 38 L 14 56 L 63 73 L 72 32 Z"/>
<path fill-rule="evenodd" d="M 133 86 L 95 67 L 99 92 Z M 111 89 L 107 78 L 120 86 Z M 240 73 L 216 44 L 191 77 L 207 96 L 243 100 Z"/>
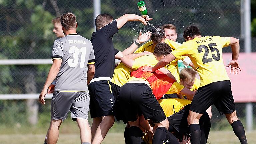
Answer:
<path fill-rule="evenodd" d="M 247 144 L 247 140 L 246 140 L 246 136 L 245 136 L 245 132 L 244 132 L 244 126 L 241 123 L 240 120 L 238 121 L 234 121 L 231 124 L 234 133 L 236 134 L 236 136 L 238 137 L 239 141 L 241 144 Z"/>

